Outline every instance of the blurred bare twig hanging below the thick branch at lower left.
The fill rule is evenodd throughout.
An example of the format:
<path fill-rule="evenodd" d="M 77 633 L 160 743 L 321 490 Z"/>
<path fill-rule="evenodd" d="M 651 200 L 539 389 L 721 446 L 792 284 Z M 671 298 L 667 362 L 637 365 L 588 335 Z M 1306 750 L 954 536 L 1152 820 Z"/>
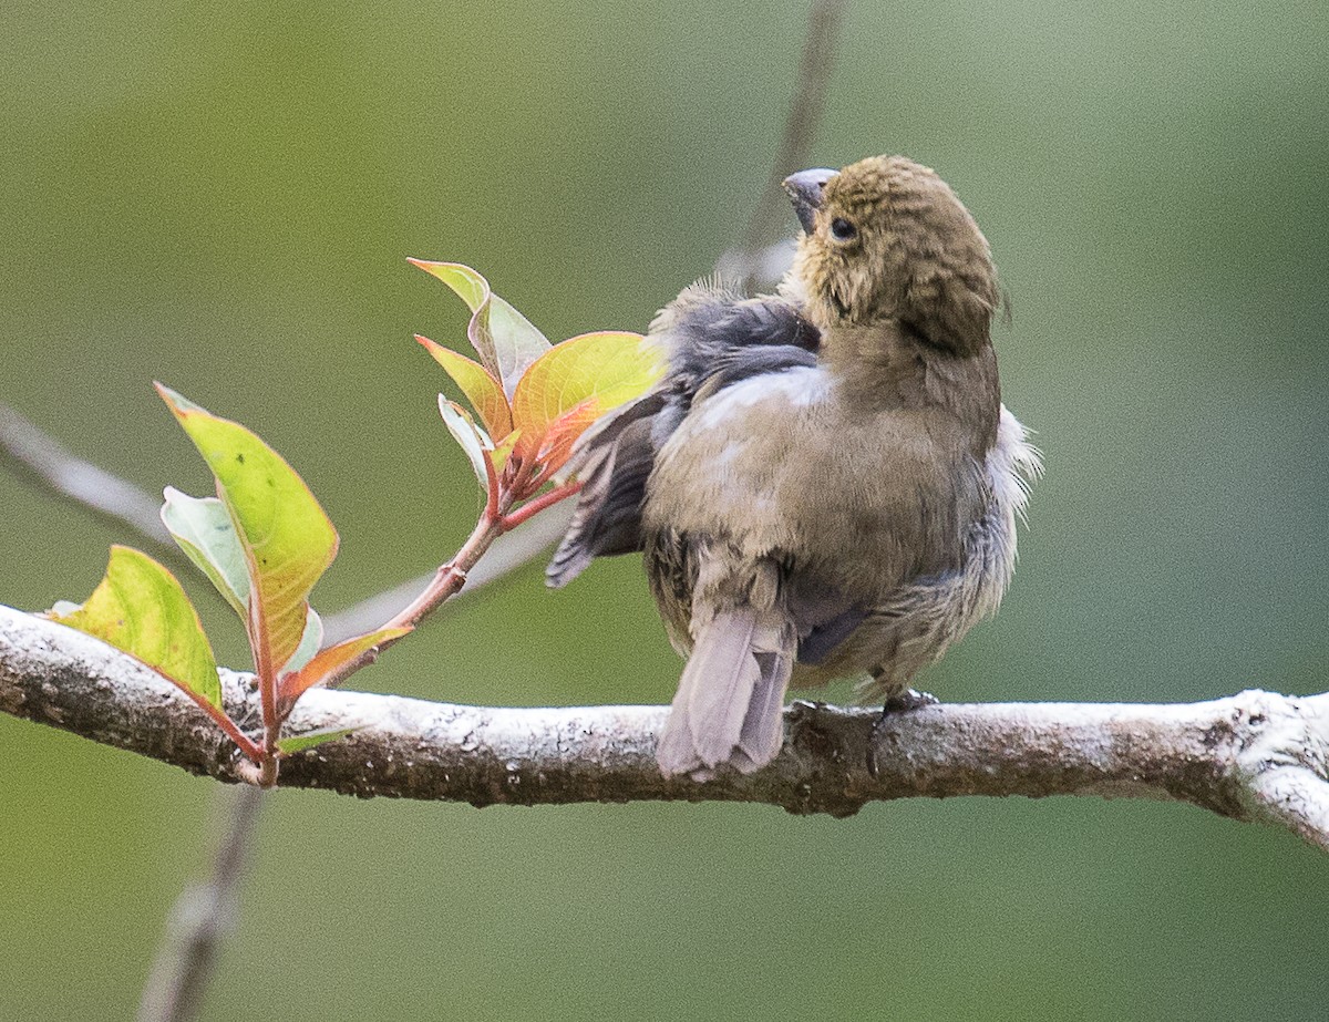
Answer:
<path fill-rule="evenodd" d="M 234 928 L 237 893 L 263 792 L 241 784 L 226 792 L 226 799 L 230 812 L 219 835 L 213 876 L 202 884 L 190 884 L 175 900 L 166 936 L 144 987 L 138 1022 L 187 1022 L 195 1018 L 221 944 Z"/>

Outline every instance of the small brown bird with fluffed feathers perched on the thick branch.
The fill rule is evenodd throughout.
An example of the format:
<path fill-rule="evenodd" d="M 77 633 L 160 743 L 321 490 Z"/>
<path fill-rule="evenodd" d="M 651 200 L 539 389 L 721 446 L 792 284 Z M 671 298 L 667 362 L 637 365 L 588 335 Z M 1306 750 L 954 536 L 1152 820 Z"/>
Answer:
<path fill-rule="evenodd" d="M 659 312 L 668 372 L 582 437 L 546 571 L 645 554 L 688 658 L 667 776 L 769 763 L 791 683 L 908 694 L 995 613 L 1041 470 L 1001 403 L 987 241 L 952 189 L 902 157 L 784 186 L 803 234 L 779 294 L 700 282 Z"/>

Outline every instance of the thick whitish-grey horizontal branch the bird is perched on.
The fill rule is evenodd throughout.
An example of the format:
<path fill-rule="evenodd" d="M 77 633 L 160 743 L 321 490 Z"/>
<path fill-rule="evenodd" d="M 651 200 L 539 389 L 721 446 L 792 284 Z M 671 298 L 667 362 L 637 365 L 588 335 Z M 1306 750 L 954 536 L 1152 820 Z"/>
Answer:
<path fill-rule="evenodd" d="M 222 671 L 227 707 L 258 714 L 253 675 Z M 231 743 L 174 686 L 80 633 L 0 607 L 0 710 L 235 781 Z M 486 708 L 308 692 L 288 730 L 355 727 L 292 756 L 286 787 L 493 804 L 719 800 L 849 816 L 925 795 L 1172 799 L 1288 827 L 1329 851 L 1329 694 L 1248 691 L 1188 704 L 993 703 L 873 710 L 795 703 L 768 768 L 664 779 L 664 707 Z"/>

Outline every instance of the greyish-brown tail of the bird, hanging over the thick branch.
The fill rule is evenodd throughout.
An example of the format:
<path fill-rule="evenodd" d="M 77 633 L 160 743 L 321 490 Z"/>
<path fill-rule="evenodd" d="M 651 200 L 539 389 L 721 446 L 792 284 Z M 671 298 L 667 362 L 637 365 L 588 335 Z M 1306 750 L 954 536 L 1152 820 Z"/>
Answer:
<path fill-rule="evenodd" d="M 751 773 L 775 759 L 797 645 L 780 609 L 744 605 L 702 623 L 655 750 L 661 771 L 704 780 L 720 764 Z"/>

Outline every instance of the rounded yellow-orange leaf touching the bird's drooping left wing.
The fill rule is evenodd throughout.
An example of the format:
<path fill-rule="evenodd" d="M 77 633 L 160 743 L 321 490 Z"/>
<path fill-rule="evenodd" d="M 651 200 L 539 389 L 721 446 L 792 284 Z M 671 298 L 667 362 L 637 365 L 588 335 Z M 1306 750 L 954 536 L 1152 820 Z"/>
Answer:
<path fill-rule="evenodd" d="M 603 415 L 643 395 L 663 373 L 663 354 L 639 334 L 582 334 L 526 369 L 512 397 L 513 425 L 542 437 L 582 403 L 594 399 L 597 415 Z"/>

